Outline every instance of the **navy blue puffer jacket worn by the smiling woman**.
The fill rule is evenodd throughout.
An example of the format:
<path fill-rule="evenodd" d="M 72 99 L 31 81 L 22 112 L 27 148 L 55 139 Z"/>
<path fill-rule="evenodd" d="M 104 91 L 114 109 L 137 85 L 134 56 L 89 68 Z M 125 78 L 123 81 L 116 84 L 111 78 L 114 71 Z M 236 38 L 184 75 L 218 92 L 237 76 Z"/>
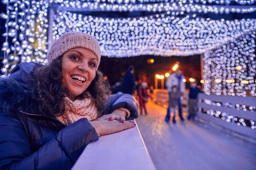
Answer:
<path fill-rule="evenodd" d="M 66 127 L 37 111 L 27 85 L 37 67 L 40 65 L 21 63 L 9 77 L 0 78 L 0 170 L 71 169 L 87 144 L 98 140 L 86 118 Z M 111 95 L 105 102 L 108 109 L 104 114 L 127 108 L 130 119 L 138 116 L 137 103 L 128 94 Z"/>

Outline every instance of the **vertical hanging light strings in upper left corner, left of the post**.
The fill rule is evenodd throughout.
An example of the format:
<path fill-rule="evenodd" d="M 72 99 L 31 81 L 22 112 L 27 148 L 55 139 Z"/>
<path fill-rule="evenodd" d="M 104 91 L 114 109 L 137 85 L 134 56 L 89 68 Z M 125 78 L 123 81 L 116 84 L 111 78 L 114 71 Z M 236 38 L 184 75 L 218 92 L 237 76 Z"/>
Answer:
<path fill-rule="evenodd" d="M 4 0 L 3 3 L 7 6 L 7 13 L 1 14 L 6 19 L 3 74 L 12 70 L 18 62 L 46 63 L 47 1 Z"/>

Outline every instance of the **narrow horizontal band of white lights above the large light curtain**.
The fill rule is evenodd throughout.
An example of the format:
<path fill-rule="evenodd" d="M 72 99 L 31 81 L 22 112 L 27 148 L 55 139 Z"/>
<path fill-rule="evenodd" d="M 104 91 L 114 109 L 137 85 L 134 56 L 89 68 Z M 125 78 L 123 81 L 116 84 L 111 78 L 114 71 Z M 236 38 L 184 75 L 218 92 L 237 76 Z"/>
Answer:
<path fill-rule="evenodd" d="M 56 2 L 56 1 L 55 1 Z M 58 2 L 58 0 L 57 0 Z M 177 3 L 130 3 L 130 4 L 112 4 L 98 2 L 81 2 L 81 1 L 63 1 L 56 3 L 55 9 L 59 11 L 183 11 L 215 14 L 223 13 L 250 13 L 256 11 L 255 6 L 212 6 L 179 1 Z"/>

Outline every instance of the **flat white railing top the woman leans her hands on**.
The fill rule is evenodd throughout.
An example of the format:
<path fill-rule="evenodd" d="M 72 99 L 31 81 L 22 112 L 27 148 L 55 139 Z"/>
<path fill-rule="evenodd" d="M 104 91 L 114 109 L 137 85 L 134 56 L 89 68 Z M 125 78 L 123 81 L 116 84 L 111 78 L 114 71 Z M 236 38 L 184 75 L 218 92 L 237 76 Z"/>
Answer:
<path fill-rule="evenodd" d="M 87 145 L 72 170 L 155 170 L 138 127 Z"/>

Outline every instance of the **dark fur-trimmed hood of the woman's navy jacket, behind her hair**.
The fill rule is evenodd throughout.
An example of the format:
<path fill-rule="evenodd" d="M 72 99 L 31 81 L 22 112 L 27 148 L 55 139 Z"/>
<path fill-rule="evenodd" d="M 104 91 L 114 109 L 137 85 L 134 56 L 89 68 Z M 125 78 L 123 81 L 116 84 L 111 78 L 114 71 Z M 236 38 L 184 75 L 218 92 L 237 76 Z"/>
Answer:
<path fill-rule="evenodd" d="M 29 85 L 28 82 L 32 71 L 41 66 L 37 63 L 23 62 L 13 68 L 9 77 L 0 78 L 0 108 L 6 112 L 35 112 L 37 104 L 32 95 L 32 83 Z"/>

